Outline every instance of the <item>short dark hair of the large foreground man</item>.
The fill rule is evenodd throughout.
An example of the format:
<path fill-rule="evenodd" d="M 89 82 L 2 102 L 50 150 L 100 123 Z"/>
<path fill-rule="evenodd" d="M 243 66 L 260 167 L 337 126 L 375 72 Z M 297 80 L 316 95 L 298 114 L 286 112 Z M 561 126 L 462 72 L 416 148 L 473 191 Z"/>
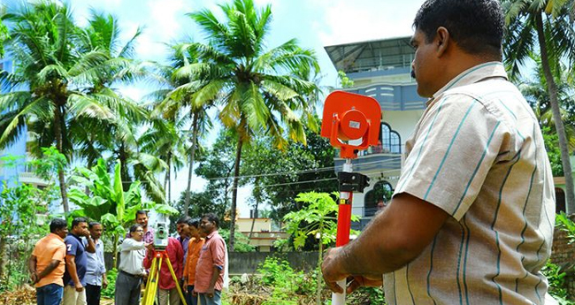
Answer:
<path fill-rule="evenodd" d="M 445 27 L 465 52 L 502 56 L 505 23 L 499 0 L 427 0 L 413 26 L 425 34 L 426 43 L 433 41 L 438 27 Z"/>

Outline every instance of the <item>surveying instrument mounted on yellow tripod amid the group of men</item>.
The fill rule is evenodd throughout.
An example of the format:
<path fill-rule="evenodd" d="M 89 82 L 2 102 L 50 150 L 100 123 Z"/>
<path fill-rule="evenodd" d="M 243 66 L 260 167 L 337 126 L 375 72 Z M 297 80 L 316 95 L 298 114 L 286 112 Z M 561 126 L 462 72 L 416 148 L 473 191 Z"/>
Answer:
<path fill-rule="evenodd" d="M 149 276 L 146 281 L 146 288 L 144 289 L 144 296 L 142 299 L 142 305 L 153 305 L 156 300 L 157 295 L 157 285 L 159 284 L 162 263 L 167 263 L 170 273 L 172 274 L 173 281 L 176 283 L 176 289 L 178 294 L 180 294 L 180 301 L 183 305 L 188 305 L 184 294 L 181 292 L 180 280 L 176 277 L 176 273 L 173 271 L 172 263 L 170 262 L 170 256 L 165 251 L 168 247 L 168 224 L 166 222 L 157 222 L 156 232 L 154 233 L 154 258 L 152 260 L 152 265 L 149 268 Z"/>

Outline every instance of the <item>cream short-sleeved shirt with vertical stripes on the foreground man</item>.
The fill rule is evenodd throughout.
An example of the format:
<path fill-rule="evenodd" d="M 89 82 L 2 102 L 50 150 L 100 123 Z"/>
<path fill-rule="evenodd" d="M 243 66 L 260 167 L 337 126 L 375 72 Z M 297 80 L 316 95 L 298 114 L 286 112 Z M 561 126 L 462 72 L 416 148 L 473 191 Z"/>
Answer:
<path fill-rule="evenodd" d="M 390 304 L 541 304 L 553 177 L 538 121 L 503 65 L 461 73 L 427 102 L 395 194 L 445 210 L 421 255 L 384 275 Z"/>

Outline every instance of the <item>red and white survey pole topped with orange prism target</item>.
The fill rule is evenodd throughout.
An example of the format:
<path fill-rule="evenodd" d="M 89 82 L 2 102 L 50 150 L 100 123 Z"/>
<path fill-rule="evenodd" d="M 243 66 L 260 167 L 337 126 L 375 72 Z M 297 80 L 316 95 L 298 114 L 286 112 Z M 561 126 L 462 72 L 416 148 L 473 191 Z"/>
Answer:
<path fill-rule="evenodd" d="M 338 172 L 340 201 L 336 247 L 344 246 L 349 242 L 353 192 L 363 193 L 369 181 L 361 173 L 353 172 L 351 160 L 357 158 L 359 150 L 378 144 L 380 120 L 380 103 L 372 97 L 343 91 L 334 91 L 327 95 L 321 136 L 329 138 L 332 146 L 340 149 L 340 156 L 345 158 L 343 169 Z M 349 141 L 358 144 L 350 144 Z M 345 304 L 346 280 L 342 279 L 338 285 L 343 287 L 343 294 L 332 294 L 332 305 Z"/>

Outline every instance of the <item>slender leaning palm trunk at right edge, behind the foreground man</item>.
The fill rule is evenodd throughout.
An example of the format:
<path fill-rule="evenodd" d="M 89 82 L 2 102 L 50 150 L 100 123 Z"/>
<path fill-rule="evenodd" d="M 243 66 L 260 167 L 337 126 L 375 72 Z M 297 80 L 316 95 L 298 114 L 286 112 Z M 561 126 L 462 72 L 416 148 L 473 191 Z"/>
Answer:
<path fill-rule="evenodd" d="M 561 161 L 563 163 L 563 174 L 565 176 L 565 199 L 566 199 L 566 212 L 567 214 L 575 213 L 575 193 L 573 192 L 573 176 L 571 173 L 571 158 L 569 147 L 567 146 L 567 136 L 565 135 L 565 127 L 563 126 L 563 119 L 561 118 L 561 110 L 557 100 L 557 86 L 553 73 L 549 67 L 549 57 L 546 45 L 546 37 L 543 31 L 543 12 L 540 11 L 535 16 L 535 25 L 537 27 L 537 37 L 539 39 L 539 47 L 541 53 L 541 66 L 543 68 L 543 75 L 547 81 L 549 103 L 551 103 L 551 111 L 553 111 L 553 118 L 555 121 L 555 129 L 559 139 L 559 149 L 561 149 Z"/>

